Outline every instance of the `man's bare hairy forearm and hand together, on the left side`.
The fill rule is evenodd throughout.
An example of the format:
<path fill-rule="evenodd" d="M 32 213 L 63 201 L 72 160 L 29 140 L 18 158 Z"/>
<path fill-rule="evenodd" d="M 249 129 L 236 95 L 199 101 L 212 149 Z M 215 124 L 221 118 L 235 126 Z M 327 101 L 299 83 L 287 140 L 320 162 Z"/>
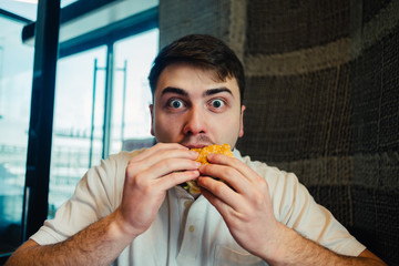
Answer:
<path fill-rule="evenodd" d="M 132 157 L 122 203 L 112 214 L 54 245 L 28 241 L 7 265 L 110 265 L 152 224 L 171 187 L 196 178 L 197 153 L 180 144 L 157 144 Z"/>

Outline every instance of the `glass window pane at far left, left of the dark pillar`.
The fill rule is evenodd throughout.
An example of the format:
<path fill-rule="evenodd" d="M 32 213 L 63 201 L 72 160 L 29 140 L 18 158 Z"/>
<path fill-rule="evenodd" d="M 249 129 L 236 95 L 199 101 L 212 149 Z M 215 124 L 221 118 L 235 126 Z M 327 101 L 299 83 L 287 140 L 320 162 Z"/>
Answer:
<path fill-rule="evenodd" d="M 0 17 L 0 254 L 21 244 L 34 55 L 22 27 Z"/>

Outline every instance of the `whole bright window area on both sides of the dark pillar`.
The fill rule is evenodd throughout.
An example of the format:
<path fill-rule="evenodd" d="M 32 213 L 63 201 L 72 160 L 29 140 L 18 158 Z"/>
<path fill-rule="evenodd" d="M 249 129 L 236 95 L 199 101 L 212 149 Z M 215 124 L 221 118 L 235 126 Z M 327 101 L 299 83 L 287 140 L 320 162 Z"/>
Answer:
<path fill-rule="evenodd" d="M 126 4 L 129 9 L 123 8 Z M 114 1 L 114 6 L 106 6 L 110 13 L 120 13 L 117 10 L 121 9 L 131 11 L 123 12 L 125 17 L 120 18 L 103 13 L 105 9 L 96 10 L 95 3 L 91 2 L 86 9 L 95 10 L 92 12 L 94 20 L 99 21 L 96 14 L 102 14 L 115 21 L 61 41 L 52 116 L 50 218 L 73 194 L 88 168 L 99 164 L 101 157 L 120 152 L 126 140 L 139 139 L 139 143 L 151 144 L 147 109 L 151 92 L 146 76 L 157 52 L 156 6 L 156 0 L 141 6 L 131 1 Z M 33 35 L 23 34 L 25 44 L 21 42 L 22 29 L 24 33 L 25 29 L 31 29 L 22 24 L 29 23 L 29 19 L 14 14 L 11 14 L 12 19 L 3 18 L 10 12 L 1 12 L 1 8 L 0 4 L 0 264 L 21 244 L 24 232 L 21 221 L 34 57 L 34 48 L 28 45 Z M 71 14 L 73 8 L 69 12 Z M 64 28 L 65 34 L 81 28 L 70 25 Z M 110 69 L 112 71 L 108 71 Z M 35 191 L 47 195 L 42 193 L 44 188 Z M 34 203 L 29 201 L 29 205 Z M 27 213 L 32 212 L 29 205 L 23 209 Z M 44 209 L 43 205 L 34 206 Z M 31 217 L 37 218 L 34 222 L 42 218 L 38 219 L 35 214 L 25 217 L 28 224 L 34 226 L 37 223 L 30 223 Z"/>

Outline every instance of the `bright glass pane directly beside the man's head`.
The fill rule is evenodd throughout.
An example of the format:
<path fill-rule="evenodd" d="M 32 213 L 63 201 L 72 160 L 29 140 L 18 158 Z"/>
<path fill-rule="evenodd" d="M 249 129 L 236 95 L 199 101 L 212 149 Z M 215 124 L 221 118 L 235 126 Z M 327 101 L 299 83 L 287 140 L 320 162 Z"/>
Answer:
<path fill-rule="evenodd" d="M 120 152 L 123 143 L 135 143 L 124 149 L 131 150 L 152 139 L 147 76 L 157 48 L 158 29 L 114 44 L 111 154 Z"/>

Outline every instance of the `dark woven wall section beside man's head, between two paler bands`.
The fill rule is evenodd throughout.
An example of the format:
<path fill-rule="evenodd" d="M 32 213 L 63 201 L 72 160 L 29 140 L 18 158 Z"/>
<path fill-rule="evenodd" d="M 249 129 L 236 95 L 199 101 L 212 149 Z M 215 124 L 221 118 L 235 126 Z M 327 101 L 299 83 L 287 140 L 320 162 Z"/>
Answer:
<path fill-rule="evenodd" d="M 247 81 L 244 153 L 266 162 L 350 153 L 348 65 Z"/>

